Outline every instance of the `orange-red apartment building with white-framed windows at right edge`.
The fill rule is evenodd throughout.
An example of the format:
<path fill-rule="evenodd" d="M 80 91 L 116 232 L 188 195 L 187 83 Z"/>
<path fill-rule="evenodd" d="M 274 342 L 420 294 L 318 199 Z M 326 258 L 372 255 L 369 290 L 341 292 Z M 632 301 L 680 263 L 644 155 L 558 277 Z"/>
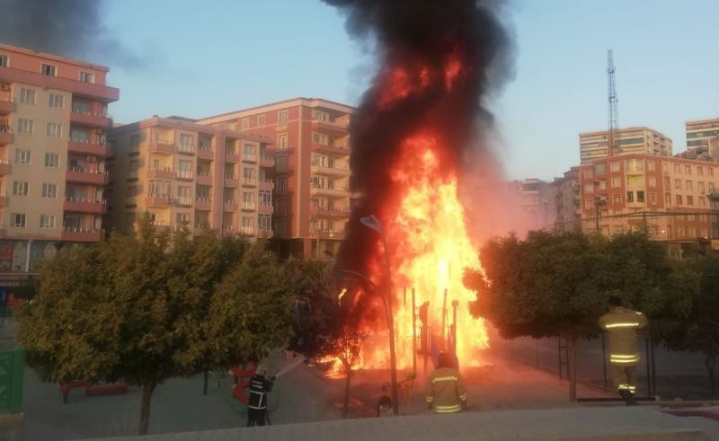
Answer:
<path fill-rule="evenodd" d="M 583 231 L 620 234 L 646 227 L 653 239 L 717 244 L 719 163 L 629 154 L 579 167 Z"/>

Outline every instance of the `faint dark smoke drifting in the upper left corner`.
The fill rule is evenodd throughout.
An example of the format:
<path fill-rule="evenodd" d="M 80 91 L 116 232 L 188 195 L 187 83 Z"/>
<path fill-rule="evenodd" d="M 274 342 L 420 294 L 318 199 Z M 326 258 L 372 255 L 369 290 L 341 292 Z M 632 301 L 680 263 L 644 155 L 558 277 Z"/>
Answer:
<path fill-rule="evenodd" d="M 103 0 L 0 0 L 0 43 L 126 68 L 146 64 L 114 38 Z"/>

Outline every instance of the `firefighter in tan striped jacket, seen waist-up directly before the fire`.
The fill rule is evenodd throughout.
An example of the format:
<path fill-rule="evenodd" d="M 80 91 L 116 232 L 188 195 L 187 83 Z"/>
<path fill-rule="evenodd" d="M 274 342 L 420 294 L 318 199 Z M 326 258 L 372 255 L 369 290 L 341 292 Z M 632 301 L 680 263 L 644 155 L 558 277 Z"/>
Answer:
<path fill-rule="evenodd" d="M 466 410 L 465 380 L 445 352 L 439 353 L 437 368 L 427 378 L 427 407 L 435 413 Z"/>

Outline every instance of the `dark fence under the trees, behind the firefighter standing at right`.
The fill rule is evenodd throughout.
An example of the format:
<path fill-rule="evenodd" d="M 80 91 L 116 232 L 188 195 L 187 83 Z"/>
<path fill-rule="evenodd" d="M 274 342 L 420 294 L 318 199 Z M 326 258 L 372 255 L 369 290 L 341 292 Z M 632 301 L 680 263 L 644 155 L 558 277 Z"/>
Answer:
<path fill-rule="evenodd" d="M 659 395 L 663 399 L 712 399 L 709 377 L 701 354 L 670 351 L 640 336 L 641 361 L 636 368 L 637 395 Z M 567 350 L 564 339 L 492 340 L 498 355 L 524 365 L 567 378 Z M 577 380 L 612 391 L 608 341 L 602 338 L 580 340 L 577 349 Z M 589 397 L 582 397 L 589 398 Z"/>

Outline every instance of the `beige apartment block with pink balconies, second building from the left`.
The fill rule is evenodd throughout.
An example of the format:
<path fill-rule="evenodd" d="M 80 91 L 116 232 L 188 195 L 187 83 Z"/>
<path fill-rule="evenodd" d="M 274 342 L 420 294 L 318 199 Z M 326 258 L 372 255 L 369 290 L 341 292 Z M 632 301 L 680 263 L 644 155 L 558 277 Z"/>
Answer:
<path fill-rule="evenodd" d="M 113 228 L 132 231 L 147 212 L 160 227 L 271 237 L 271 139 L 181 117 L 112 128 L 108 139 Z"/>

